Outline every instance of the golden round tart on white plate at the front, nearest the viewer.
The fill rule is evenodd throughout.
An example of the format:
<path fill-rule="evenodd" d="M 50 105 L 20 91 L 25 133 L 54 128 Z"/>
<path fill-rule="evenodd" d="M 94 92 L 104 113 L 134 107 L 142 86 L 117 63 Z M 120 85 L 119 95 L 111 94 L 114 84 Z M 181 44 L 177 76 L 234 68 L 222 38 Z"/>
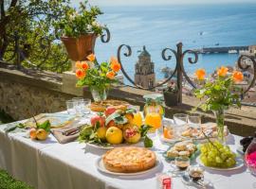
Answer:
<path fill-rule="evenodd" d="M 116 147 L 102 156 L 105 168 L 118 173 L 135 173 L 155 166 L 155 152 L 144 147 Z"/>

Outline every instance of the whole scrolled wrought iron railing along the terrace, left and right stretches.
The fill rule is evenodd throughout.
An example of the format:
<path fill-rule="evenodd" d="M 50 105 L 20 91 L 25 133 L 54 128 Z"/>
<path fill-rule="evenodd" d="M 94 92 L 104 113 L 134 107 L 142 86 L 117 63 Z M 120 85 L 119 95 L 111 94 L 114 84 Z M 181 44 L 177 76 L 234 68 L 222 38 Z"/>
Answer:
<path fill-rule="evenodd" d="M 35 69 L 45 69 L 45 62 L 48 59 L 49 55 L 50 55 L 50 47 L 52 45 L 52 43 L 54 43 L 54 45 L 61 45 L 61 43 L 56 43 L 55 40 L 60 40 L 58 38 L 54 39 L 54 40 L 50 40 L 47 37 L 42 37 L 38 40 L 38 45 L 40 47 L 40 49 L 42 49 L 42 54 L 44 54 L 40 61 L 38 61 L 36 64 L 31 62 L 29 60 L 29 50 L 32 46 L 32 44 L 28 44 L 28 43 L 24 43 L 24 39 L 22 36 L 19 36 L 19 34 L 17 32 L 14 32 L 13 36 L 9 36 L 9 41 L 13 41 L 13 46 L 12 48 L 9 49 L 9 59 L 5 60 L 5 61 L 12 61 L 17 69 L 21 69 L 23 68 L 22 66 L 22 62 L 23 63 L 27 63 L 27 65 L 29 67 L 35 68 Z M 23 42 L 22 42 L 23 41 Z M 110 32 L 108 30 L 108 28 L 104 28 L 104 32 L 101 35 L 101 42 L 102 43 L 108 43 L 110 41 Z M 21 42 L 22 42 L 22 47 L 21 47 Z M 56 56 L 56 55 L 55 55 Z M 65 53 L 62 55 L 65 58 L 58 62 L 58 63 L 54 63 L 52 65 L 52 68 L 56 68 L 63 66 L 65 63 L 68 62 L 68 58 L 66 57 Z M 132 56 L 132 47 L 130 45 L 127 44 L 121 44 L 119 45 L 118 48 L 118 60 L 121 64 L 121 72 L 123 74 L 124 77 L 127 78 L 127 80 L 132 84 L 126 84 L 128 86 L 137 88 L 137 89 L 143 89 L 143 90 L 154 90 L 157 87 L 160 87 L 166 83 L 168 83 L 174 76 L 176 77 L 176 86 L 178 89 L 178 102 L 182 103 L 182 83 L 184 81 L 188 81 L 188 83 L 192 86 L 192 88 L 196 88 L 196 84 L 193 83 L 192 79 L 188 76 L 188 74 L 185 71 L 184 68 L 184 60 L 185 60 L 185 56 L 188 56 L 188 62 L 191 64 L 194 64 L 198 61 L 198 54 L 193 51 L 193 50 L 183 50 L 183 44 L 182 43 L 177 43 L 176 44 L 176 49 L 172 49 L 172 48 L 164 48 L 161 52 L 161 56 L 163 60 L 166 61 L 170 61 L 172 60 L 172 58 L 174 57 L 175 59 L 175 66 L 174 66 L 174 72 L 167 77 L 164 81 L 162 81 L 161 83 L 156 84 L 153 87 L 149 87 L 149 88 L 143 88 L 139 85 L 137 85 L 137 83 L 134 81 L 134 79 L 132 77 L 130 77 L 124 67 L 122 66 L 122 56 L 128 58 Z M 250 64 L 246 64 L 244 62 L 244 60 L 250 60 L 251 63 Z M 4 58 L 0 57 L 0 61 L 3 61 Z M 247 89 L 244 90 L 243 94 L 246 94 L 249 89 L 251 87 L 254 86 L 255 81 L 256 81 L 256 60 L 254 56 L 248 56 L 248 55 L 242 55 L 239 57 L 238 61 L 237 61 L 237 65 L 238 68 L 240 68 L 242 71 L 247 71 L 248 69 L 253 70 L 253 78 L 251 79 L 250 83 L 248 83 L 247 85 Z"/>

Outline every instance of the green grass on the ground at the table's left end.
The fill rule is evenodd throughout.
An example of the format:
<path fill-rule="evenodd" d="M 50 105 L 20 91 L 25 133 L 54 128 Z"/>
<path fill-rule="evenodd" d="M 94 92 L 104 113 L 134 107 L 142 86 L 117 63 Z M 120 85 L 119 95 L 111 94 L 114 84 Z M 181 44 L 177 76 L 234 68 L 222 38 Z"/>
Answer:
<path fill-rule="evenodd" d="M 13 121 L 6 112 L 0 110 L 0 125 Z M 0 170 L 0 189 L 32 189 L 32 187 L 22 181 L 14 180 L 7 171 Z"/>

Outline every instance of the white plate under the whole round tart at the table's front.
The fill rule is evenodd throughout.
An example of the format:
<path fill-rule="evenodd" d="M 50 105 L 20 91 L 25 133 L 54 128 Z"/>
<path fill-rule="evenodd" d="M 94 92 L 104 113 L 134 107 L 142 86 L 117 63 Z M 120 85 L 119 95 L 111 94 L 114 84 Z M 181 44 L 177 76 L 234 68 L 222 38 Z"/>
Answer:
<path fill-rule="evenodd" d="M 159 168 L 161 165 L 161 162 L 156 159 L 156 162 L 155 162 L 155 166 L 152 167 L 151 169 L 148 169 L 148 170 L 145 170 L 145 171 L 139 171 L 139 172 L 136 172 L 136 173 L 116 173 L 116 172 L 111 172 L 109 170 L 107 170 L 102 162 L 102 158 L 99 158 L 96 162 L 96 167 L 103 173 L 107 173 L 107 174 L 110 174 L 110 175 L 116 175 L 116 176 L 137 176 L 137 175 L 142 175 L 142 174 L 146 174 L 146 173 L 149 173 L 149 172 L 153 172 L 155 171 L 157 168 Z"/>

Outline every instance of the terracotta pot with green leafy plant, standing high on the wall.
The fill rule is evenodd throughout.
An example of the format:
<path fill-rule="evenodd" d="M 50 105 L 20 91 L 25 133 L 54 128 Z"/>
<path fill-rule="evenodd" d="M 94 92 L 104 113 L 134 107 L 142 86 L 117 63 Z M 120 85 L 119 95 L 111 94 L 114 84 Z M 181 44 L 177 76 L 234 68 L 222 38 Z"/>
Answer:
<path fill-rule="evenodd" d="M 68 9 L 64 18 L 56 24 L 68 57 L 74 62 L 86 60 L 89 54 L 94 53 L 96 38 L 104 27 L 97 22 L 101 9 L 95 6 L 87 8 L 87 4 L 88 1 L 80 3 L 79 11 Z"/>

